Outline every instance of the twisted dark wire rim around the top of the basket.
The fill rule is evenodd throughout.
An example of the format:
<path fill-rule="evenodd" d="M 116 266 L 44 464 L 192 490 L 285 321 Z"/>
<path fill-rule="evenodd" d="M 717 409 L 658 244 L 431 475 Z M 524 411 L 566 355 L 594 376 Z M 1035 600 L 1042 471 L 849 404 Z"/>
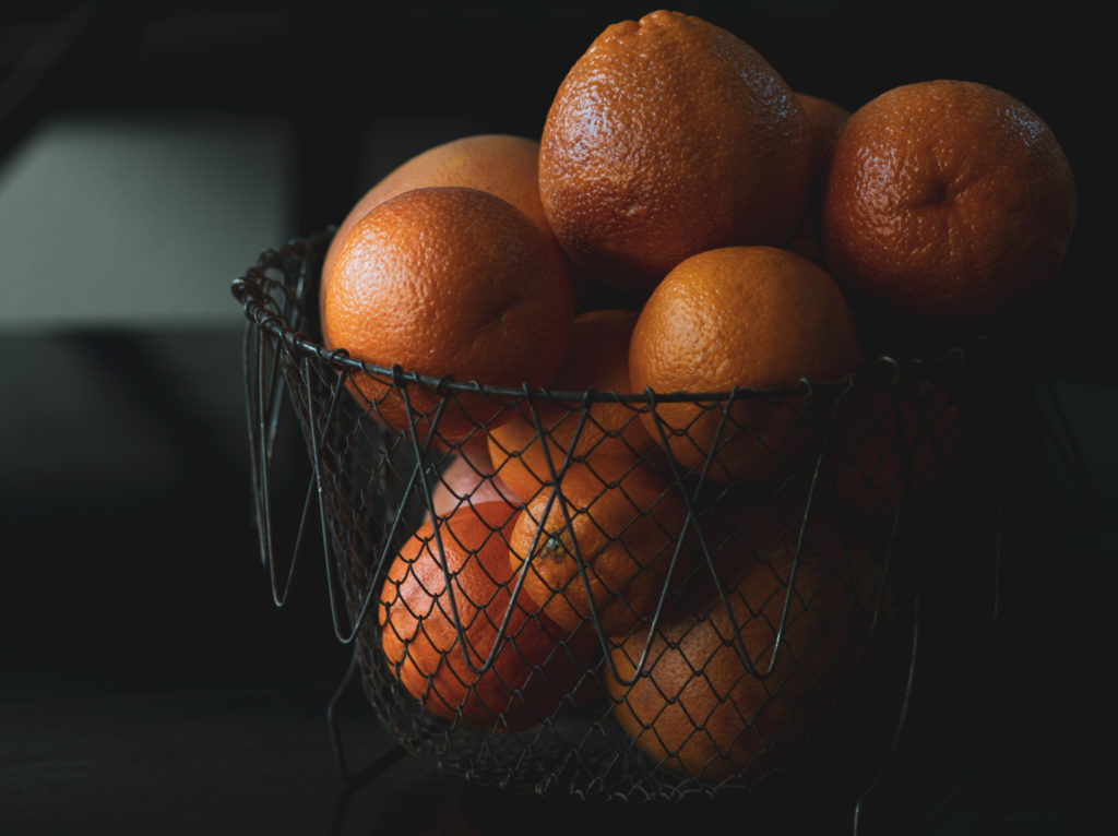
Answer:
<path fill-rule="evenodd" d="M 373 377 L 383 378 L 394 386 L 418 384 L 423 388 L 434 390 L 438 393 L 480 393 L 495 398 L 530 398 L 544 399 L 570 405 L 589 405 L 597 402 L 626 402 L 626 403 L 670 403 L 670 402 L 695 402 L 710 401 L 720 402 L 727 400 L 738 400 L 747 398 L 786 398 L 789 396 L 809 397 L 815 391 L 830 393 L 844 393 L 852 389 L 860 381 L 896 383 L 906 373 L 920 369 L 945 369 L 958 368 L 966 359 L 974 353 L 988 351 L 992 342 L 989 334 L 983 334 L 973 340 L 967 345 L 953 345 L 929 357 L 915 357 L 899 359 L 892 354 L 879 354 L 877 357 L 863 358 L 859 368 L 846 372 L 840 378 L 832 380 L 815 380 L 799 378 L 795 383 L 780 387 L 732 387 L 727 390 L 711 391 L 686 391 L 657 392 L 646 387 L 641 392 L 618 392 L 614 390 L 598 390 L 589 388 L 580 391 L 555 390 L 548 387 L 532 387 L 527 382 L 520 386 L 494 386 L 481 383 L 476 380 L 455 380 L 452 376 L 434 377 L 423 374 L 414 370 L 404 369 L 399 364 L 380 365 L 366 360 L 359 360 L 349 354 L 345 349 L 328 349 L 322 343 L 315 341 L 304 331 L 297 329 L 292 322 L 291 312 L 284 315 L 277 310 L 275 297 L 268 292 L 272 288 L 282 286 L 291 304 L 294 304 L 296 313 L 303 319 L 306 316 L 304 297 L 306 285 L 300 282 L 296 286 L 281 285 L 268 276 L 269 270 L 281 270 L 290 279 L 290 270 L 293 262 L 301 266 L 299 270 L 301 277 L 305 277 L 307 265 L 321 258 L 325 253 L 325 247 L 332 239 L 337 227 L 330 226 L 309 236 L 295 237 L 287 240 L 278 249 L 267 248 L 260 251 L 259 257 L 244 275 L 233 281 L 231 292 L 234 297 L 241 304 L 245 317 L 249 326 L 256 326 L 260 331 L 271 334 L 297 354 L 318 360 L 326 365 L 349 374 L 362 372 Z M 316 265 L 315 265 L 316 266 Z M 316 284 L 315 284 L 316 286 Z"/>

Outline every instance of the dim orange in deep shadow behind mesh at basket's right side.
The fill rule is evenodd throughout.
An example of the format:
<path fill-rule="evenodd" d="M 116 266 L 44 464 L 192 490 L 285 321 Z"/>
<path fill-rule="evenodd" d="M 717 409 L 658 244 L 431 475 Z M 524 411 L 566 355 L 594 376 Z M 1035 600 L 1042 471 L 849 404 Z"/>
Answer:
<path fill-rule="evenodd" d="M 919 504 L 959 456 L 959 408 L 928 380 L 915 388 L 855 387 L 839 407 L 835 430 L 833 482 L 824 476 L 821 488 L 864 519 L 892 517 L 906 491 Z"/>

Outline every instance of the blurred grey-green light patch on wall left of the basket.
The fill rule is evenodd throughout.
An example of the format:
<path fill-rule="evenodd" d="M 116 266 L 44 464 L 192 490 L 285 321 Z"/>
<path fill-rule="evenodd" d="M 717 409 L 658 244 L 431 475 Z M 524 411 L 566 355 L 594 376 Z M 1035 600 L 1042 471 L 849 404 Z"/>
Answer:
<path fill-rule="evenodd" d="M 0 164 L 0 327 L 237 325 L 233 279 L 292 234 L 278 116 L 69 114 Z"/>

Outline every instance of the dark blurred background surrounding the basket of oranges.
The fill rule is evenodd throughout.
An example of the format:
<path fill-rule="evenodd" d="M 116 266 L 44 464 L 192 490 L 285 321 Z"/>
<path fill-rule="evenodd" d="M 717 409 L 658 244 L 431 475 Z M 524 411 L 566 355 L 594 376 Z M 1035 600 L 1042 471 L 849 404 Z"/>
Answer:
<path fill-rule="evenodd" d="M 0 834 L 693 826 L 690 806 L 510 800 L 413 758 L 343 795 L 324 710 L 349 652 L 332 631 L 313 543 L 287 605 L 273 606 L 250 515 L 244 320 L 228 293 L 259 249 L 339 222 L 411 154 L 470 133 L 538 135 L 594 37 L 653 8 L 4 6 Z M 1112 514 L 1118 377 L 1103 246 L 1114 165 L 1100 21 L 1069 3 L 674 8 L 741 36 L 795 89 L 851 110 L 898 84 L 955 77 L 1001 87 L 1049 123 L 1077 173 L 1080 213 L 1058 302 L 1025 333 L 1023 371 L 1055 382 Z M 82 137 L 105 125 L 125 156 L 146 148 L 152 125 L 172 151 L 179 131 L 200 159 L 212 152 L 221 165 L 209 179 L 205 168 L 190 174 L 200 209 L 177 191 L 173 155 L 151 203 L 129 202 L 143 183 L 126 178 L 83 187 L 96 172 L 80 169 Z M 20 179 L 59 136 L 78 137 L 64 145 L 78 168 L 46 165 L 41 184 Z M 245 164 L 254 160 L 272 168 L 256 172 Z M 177 206 L 159 236 L 143 226 Z M 274 500 L 291 514 L 305 457 L 294 438 L 281 450 L 290 458 Z M 1058 538 L 1036 564 L 1042 582 L 1011 601 L 1023 629 L 991 663 L 1008 678 L 979 697 L 945 664 L 920 692 L 907 758 L 868 808 L 881 833 L 920 823 L 926 833 L 1095 833 L 1112 807 L 1112 767 L 1091 766 L 1114 742 L 1098 673 L 1112 655 L 1101 640 L 1114 635 L 1112 517 L 1088 513 L 1053 447 L 1021 454 Z M 357 766 L 391 751 L 359 695 L 342 706 Z M 735 804 L 719 808 L 751 815 Z M 836 821 L 844 832 L 844 809 Z"/>

